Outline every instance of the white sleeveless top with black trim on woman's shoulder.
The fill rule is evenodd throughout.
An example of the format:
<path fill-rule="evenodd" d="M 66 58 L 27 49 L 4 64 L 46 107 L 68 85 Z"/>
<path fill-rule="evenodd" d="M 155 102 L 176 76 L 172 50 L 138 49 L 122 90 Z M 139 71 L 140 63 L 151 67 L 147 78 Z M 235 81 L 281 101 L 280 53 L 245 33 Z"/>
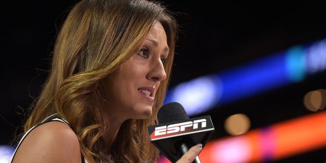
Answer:
<path fill-rule="evenodd" d="M 48 117 L 45 118 L 45 119 L 44 119 L 40 124 L 35 125 L 34 127 L 32 127 L 31 129 L 29 129 L 29 130 L 28 130 L 28 131 L 23 135 L 23 137 L 22 137 L 21 140 L 19 141 L 19 143 L 18 143 L 18 145 L 17 145 L 17 147 L 16 147 L 14 153 L 12 154 L 12 156 L 11 156 L 11 158 L 10 158 L 10 160 L 9 160 L 9 163 L 12 163 L 12 160 L 14 159 L 14 156 L 15 156 L 15 154 L 16 154 L 16 151 L 18 150 L 18 148 L 19 148 L 21 142 L 26 138 L 26 136 L 27 136 L 27 135 L 28 135 L 28 134 L 29 134 L 29 133 L 30 133 L 34 128 L 40 126 L 41 124 L 44 124 L 44 123 L 47 123 L 47 122 L 52 122 L 52 121 L 60 121 L 60 122 L 63 122 L 63 123 L 65 123 L 66 125 L 69 126 L 69 124 L 68 124 L 68 122 L 67 122 L 66 120 L 64 120 L 64 119 L 60 118 L 59 116 L 57 116 L 57 113 L 48 116 Z M 87 163 L 87 160 L 84 159 L 83 154 L 82 154 L 82 163 Z"/>

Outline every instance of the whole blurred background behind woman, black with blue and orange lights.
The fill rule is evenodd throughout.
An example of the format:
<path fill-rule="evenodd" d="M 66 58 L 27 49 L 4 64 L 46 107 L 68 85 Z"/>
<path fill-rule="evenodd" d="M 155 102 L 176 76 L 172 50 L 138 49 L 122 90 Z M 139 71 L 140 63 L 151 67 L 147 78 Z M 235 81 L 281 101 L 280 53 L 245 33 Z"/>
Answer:
<path fill-rule="evenodd" d="M 57 27 L 76 1 L 2 7 L 0 150 L 49 68 Z M 215 131 L 205 162 L 325 162 L 326 22 L 318 1 L 164 1 L 180 24 L 166 102 Z M 206 161 L 207 160 L 207 161 Z M 0 158 L 0 161 L 2 159 Z"/>

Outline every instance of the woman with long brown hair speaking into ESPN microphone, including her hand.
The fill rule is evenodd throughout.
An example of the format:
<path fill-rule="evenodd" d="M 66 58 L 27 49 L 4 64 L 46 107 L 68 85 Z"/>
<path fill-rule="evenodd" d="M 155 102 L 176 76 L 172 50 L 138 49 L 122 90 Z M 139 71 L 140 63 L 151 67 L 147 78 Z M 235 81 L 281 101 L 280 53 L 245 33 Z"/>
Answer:
<path fill-rule="evenodd" d="M 155 162 L 146 129 L 165 98 L 177 32 L 158 3 L 76 3 L 11 161 Z M 192 162 L 201 149 L 178 162 Z"/>

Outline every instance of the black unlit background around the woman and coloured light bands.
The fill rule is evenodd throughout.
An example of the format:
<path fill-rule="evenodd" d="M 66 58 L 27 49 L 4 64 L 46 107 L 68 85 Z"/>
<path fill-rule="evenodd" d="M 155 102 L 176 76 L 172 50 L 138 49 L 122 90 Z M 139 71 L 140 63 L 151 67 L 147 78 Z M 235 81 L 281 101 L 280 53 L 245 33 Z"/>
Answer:
<path fill-rule="evenodd" d="M 32 97 L 38 96 L 46 77 L 43 70 L 49 68 L 56 26 L 75 2 L 12 1 L 2 5 L 1 67 L 4 74 L 0 145 L 9 144 L 16 127 L 21 125 L 19 114 L 24 113 Z M 182 33 L 177 43 L 171 87 L 293 45 L 326 38 L 325 9 L 317 2 L 165 1 L 171 10 L 181 12 L 177 19 Z M 303 97 L 309 91 L 326 89 L 325 75 L 321 72 L 303 82 L 202 113 L 210 115 L 214 122 L 212 139 L 228 136 L 224 120 L 236 113 L 250 117 L 251 129 L 312 114 L 303 105 Z M 324 162 L 325 154 L 326 148 L 323 148 L 275 162 Z"/>

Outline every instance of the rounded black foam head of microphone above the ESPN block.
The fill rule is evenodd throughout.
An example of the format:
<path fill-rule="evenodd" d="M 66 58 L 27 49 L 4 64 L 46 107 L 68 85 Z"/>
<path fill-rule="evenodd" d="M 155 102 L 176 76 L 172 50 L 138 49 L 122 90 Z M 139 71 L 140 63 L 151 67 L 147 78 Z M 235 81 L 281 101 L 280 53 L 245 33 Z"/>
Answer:
<path fill-rule="evenodd" d="M 159 108 L 157 113 L 158 123 L 189 119 L 183 106 L 178 102 L 168 102 Z"/>

